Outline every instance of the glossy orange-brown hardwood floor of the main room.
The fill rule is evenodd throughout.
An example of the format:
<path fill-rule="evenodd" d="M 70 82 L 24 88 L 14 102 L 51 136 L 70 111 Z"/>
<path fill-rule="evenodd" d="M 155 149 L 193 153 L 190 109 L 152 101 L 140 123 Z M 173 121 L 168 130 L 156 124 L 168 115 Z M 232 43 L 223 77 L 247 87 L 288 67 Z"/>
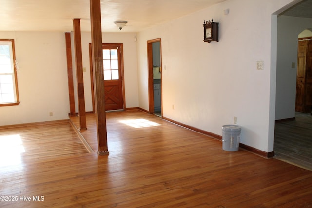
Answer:
<path fill-rule="evenodd" d="M 92 116 L 82 132 L 95 151 L 90 153 L 44 154 L 62 139 L 79 143 L 66 123 L 58 131 L 36 126 L 27 135 L 10 129 L 22 140 L 41 135 L 50 145 L 39 149 L 44 158 L 20 154 L 20 164 L 1 167 L 0 207 L 312 207 L 312 171 L 243 150 L 223 151 L 219 140 L 140 111 L 107 113 L 110 154 L 98 156 Z M 8 131 L 0 129 L 0 135 Z M 2 200 L 12 196 L 17 201 Z M 41 196 L 44 201 L 34 200 Z"/>

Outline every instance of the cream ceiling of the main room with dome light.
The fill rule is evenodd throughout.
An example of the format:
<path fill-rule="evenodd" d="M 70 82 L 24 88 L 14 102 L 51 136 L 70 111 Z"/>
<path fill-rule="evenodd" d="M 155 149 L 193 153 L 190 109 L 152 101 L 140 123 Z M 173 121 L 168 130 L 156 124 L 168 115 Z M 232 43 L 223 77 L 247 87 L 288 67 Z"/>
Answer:
<path fill-rule="evenodd" d="M 101 0 L 103 32 L 138 32 L 225 0 Z M 0 0 L 0 31 L 90 31 L 90 0 Z M 210 18 L 210 17 L 207 17 Z"/>

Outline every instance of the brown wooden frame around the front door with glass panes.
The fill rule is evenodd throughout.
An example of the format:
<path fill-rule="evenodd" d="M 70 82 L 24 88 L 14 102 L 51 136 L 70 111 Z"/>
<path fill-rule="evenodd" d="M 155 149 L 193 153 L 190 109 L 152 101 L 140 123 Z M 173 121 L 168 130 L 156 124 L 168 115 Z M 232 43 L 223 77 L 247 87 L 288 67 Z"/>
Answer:
<path fill-rule="evenodd" d="M 124 65 L 123 65 L 123 43 L 102 43 L 104 45 L 120 47 L 120 62 L 121 62 L 121 87 L 122 87 L 122 108 L 126 110 L 126 95 L 125 95 L 125 82 L 124 82 Z M 93 82 L 93 66 L 92 66 L 92 44 L 89 43 L 89 59 L 90 59 L 90 79 L 91 79 L 91 96 L 92 96 L 92 113 L 95 113 L 95 100 L 94 100 L 94 82 Z M 103 80 L 104 81 L 104 80 Z"/>

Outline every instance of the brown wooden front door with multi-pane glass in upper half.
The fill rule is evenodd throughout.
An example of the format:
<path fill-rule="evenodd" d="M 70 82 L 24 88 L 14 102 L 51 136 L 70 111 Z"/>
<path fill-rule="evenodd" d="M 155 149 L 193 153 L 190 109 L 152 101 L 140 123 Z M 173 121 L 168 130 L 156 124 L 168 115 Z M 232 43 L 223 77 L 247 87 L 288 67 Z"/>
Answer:
<path fill-rule="evenodd" d="M 104 94 L 105 110 L 125 110 L 124 85 L 123 85 L 123 58 L 122 43 L 103 43 L 103 71 L 104 71 Z M 90 60 L 92 55 L 90 53 Z M 92 61 L 91 61 L 92 63 Z M 90 64 L 92 70 L 92 64 Z M 91 78 L 93 91 L 93 80 Z M 92 93 L 93 111 L 94 93 Z"/>

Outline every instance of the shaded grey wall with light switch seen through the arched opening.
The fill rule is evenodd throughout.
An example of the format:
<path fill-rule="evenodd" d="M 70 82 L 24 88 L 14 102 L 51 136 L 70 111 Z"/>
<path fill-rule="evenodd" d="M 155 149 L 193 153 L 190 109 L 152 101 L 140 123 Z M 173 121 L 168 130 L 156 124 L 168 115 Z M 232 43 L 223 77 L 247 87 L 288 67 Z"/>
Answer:
<path fill-rule="evenodd" d="M 279 120 L 295 116 L 298 35 L 312 27 L 312 19 L 281 15 L 277 20 L 275 119 Z"/>

